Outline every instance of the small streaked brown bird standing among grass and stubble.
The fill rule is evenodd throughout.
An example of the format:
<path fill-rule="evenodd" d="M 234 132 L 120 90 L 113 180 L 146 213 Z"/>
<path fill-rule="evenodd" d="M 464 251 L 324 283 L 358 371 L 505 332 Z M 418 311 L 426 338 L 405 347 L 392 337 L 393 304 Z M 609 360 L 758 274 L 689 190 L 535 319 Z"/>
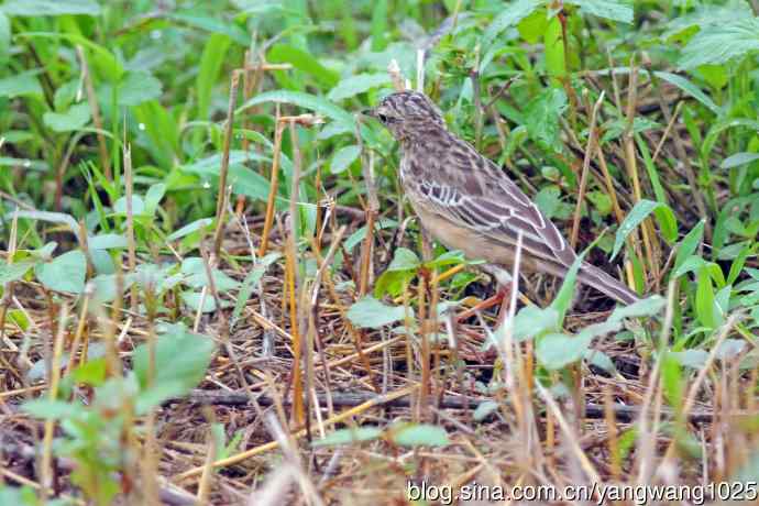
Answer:
<path fill-rule="evenodd" d="M 578 257 L 566 239 L 501 167 L 448 129 L 427 95 L 395 91 L 362 112 L 398 141 L 400 186 L 425 231 L 506 278 L 521 235 L 521 271 L 566 275 Z M 639 300 L 585 261 L 578 280 L 622 305 Z"/>

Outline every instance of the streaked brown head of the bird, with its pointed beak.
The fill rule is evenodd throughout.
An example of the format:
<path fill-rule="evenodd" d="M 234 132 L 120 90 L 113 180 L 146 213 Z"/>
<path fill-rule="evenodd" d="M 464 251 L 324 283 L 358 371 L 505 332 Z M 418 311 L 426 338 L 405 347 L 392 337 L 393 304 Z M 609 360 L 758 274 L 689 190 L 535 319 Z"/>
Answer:
<path fill-rule="evenodd" d="M 446 121 L 438 108 L 419 91 L 405 90 L 388 95 L 364 114 L 380 120 L 400 142 L 446 129 Z"/>

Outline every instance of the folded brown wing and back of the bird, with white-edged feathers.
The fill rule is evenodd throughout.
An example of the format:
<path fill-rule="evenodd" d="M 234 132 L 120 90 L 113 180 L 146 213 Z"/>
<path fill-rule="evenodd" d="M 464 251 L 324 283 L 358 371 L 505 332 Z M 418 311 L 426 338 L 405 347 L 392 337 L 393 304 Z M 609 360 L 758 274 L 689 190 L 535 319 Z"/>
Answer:
<path fill-rule="evenodd" d="M 432 156 L 429 156 L 429 155 Z M 415 164 L 419 157 L 409 157 Z M 406 184 L 437 215 L 525 253 L 568 268 L 575 254 L 556 226 L 503 170 L 472 146 L 452 139 L 448 148 L 428 153 L 425 167 L 409 167 Z M 421 172 L 425 172 L 422 176 Z"/>

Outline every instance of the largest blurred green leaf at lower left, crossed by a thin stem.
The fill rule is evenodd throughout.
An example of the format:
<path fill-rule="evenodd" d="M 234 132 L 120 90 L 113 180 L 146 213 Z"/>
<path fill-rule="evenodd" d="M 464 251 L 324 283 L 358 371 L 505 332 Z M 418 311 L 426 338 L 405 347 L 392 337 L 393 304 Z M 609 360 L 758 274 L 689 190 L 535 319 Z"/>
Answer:
<path fill-rule="evenodd" d="M 170 396 L 184 395 L 195 388 L 206 375 L 216 345 L 207 336 L 191 333 L 179 326 L 172 326 L 155 343 L 154 385 L 172 386 Z M 147 344 L 134 350 L 134 372 L 141 388 L 147 386 Z"/>

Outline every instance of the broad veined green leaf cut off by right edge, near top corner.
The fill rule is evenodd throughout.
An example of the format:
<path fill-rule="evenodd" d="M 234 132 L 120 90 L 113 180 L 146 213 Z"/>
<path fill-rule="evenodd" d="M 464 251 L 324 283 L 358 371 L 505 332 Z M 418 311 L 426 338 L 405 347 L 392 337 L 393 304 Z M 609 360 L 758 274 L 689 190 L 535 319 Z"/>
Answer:
<path fill-rule="evenodd" d="M 680 68 L 721 65 L 759 51 L 759 18 L 744 18 L 707 26 L 696 33 L 683 48 Z"/>

